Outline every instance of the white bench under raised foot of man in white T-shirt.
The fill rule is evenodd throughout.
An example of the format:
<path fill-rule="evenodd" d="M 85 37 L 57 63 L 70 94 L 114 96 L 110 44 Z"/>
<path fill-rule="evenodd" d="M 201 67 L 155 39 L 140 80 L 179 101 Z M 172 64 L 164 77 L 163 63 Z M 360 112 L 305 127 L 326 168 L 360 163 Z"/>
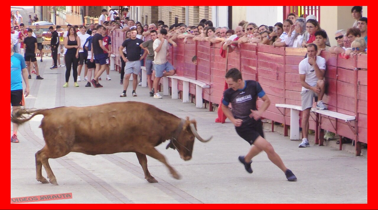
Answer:
<path fill-rule="evenodd" d="M 346 114 L 341 114 L 339 112 L 333 112 L 333 111 L 330 111 L 330 110 L 320 110 L 320 109 L 313 109 L 313 112 L 316 112 L 317 113 L 317 116 L 316 116 L 316 121 L 317 121 L 317 124 L 319 124 L 319 139 L 316 139 L 315 141 L 316 142 L 319 142 L 319 146 L 322 146 L 323 143 L 324 143 L 324 131 L 322 131 L 321 129 L 321 124 L 322 124 L 322 121 L 321 121 L 321 117 L 320 115 L 325 115 L 327 116 L 328 120 L 330 120 L 329 117 L 332 117 L 332 118 L 336 118 L 336 119 L 340 119 L 340 120 L 345 120 L 345 122 L 347 122 L 348 126 L 350 127 L 350 129 L 353 130 L 353 132 L 355 133 L 355 135 L 357 135 L 356 133 L 356 128 L 352 128 L 352 126 L 349 124 L 350 121 L 354 121 L 356 120 L 356 117 L 355 116 L 352 116 L 352 115 L 346 115 Z M 331 121 L 331 120 L 330 120 Z M 331 124 L 332 124 L 332 121 L 331 121 Z M 332 126 L 335 128 L 335 126 L 332 124 Z M 336 129 L 335 129 L 336 130 Z M 339 150 L 342 149 L 342 141 L 341 141 L 341 136 L 340 136 L 340 141 L 339 141 Z"/>

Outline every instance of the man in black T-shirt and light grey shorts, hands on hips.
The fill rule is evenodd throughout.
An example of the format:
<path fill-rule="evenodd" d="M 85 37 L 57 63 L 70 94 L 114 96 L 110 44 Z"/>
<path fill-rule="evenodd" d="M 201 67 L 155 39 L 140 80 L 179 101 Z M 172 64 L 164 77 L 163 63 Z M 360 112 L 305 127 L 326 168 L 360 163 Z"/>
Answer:
<path fill-rule="evenodd" d="M 133 96 L 136 96 L 136 86 L 138 86 L 138 75 L 141 72 L 141 60 L 146 56 L 147 51 L 144 51 L 141 56 L 141 44 L 143 40 L 136 38 L 136 28 L 130 30 L 131 38 L 124 40 L 121 46 L 119 46 L 119 54 L 121 59 L 126 62 L 125 75 L 123 77 L 123 92 L 119 97 L 126 97 L 127 86 L 129 86 L 129 78 L 133 74 Z M 123 54 L 122 50 L 126 48 L 127 58 Z"/>

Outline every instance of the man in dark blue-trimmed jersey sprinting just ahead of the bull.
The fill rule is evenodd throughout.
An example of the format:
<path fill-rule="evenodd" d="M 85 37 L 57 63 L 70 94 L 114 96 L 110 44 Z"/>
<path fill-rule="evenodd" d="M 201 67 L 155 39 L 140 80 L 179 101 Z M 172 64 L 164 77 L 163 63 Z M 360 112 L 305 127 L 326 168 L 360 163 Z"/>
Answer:
<path fill-rule="evenodd" d="M 242 73 L 237 68 L 231 68 L 225 77 L 229 89 L 223 93 L 223 113 L 235 125 L 237 134 L 253 145 L 246 156 L 239 156 L 239 161 L 244 164 L 245 170 L 252 173 L 252 158 L 265 151 L 269 160 L 285 173 L 288 181 L 296 181 L 297 177 L 286 168 L 273 146 L 264 138 L 260 118 L 269 107 L 270 100 L 259 82 L 243 81 Z M 259 110 L 256 107 L 258 97 L 263 100 Z M 232 104 L 232 110 L 228 107 L 229 103 Z"/>

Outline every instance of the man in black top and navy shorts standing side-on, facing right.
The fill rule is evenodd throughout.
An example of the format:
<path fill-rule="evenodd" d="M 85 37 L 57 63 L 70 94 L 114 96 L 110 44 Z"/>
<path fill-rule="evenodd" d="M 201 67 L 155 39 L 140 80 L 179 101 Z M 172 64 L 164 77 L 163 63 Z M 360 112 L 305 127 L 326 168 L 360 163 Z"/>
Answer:
<path fill-rule="evenodd" d="M 106 68 L 106 56 L 105 52 L 108 54 L 112 54 L 111 51 L 109 51 L 105 46 L 102 44 L 102 31 L 105 30 L 104 26 L 98 25 L 96 27 L 97 33 L 95 36 L 92 37 L 92 54 L 95 58 L 96 63 L 96 70 L 95 70 L 95 76 L 91 80 L 93 87 L 102 87 L 100 83 L 98 83 L 98 78 L 101 76 L 102 72 L 105 71 Z"/>

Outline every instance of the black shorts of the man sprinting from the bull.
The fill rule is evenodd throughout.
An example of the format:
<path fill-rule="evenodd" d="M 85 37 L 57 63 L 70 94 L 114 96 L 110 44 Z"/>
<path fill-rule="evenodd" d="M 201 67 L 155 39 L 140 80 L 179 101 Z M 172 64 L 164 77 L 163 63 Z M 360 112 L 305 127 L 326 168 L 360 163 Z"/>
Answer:
<path fill-rule="evenodd" d="M 242 126 L 235 127 L 237 134 L 246 140 L 250 145 L 259 137 L 264 138 L 261 120 L 243 120 Z"/>

